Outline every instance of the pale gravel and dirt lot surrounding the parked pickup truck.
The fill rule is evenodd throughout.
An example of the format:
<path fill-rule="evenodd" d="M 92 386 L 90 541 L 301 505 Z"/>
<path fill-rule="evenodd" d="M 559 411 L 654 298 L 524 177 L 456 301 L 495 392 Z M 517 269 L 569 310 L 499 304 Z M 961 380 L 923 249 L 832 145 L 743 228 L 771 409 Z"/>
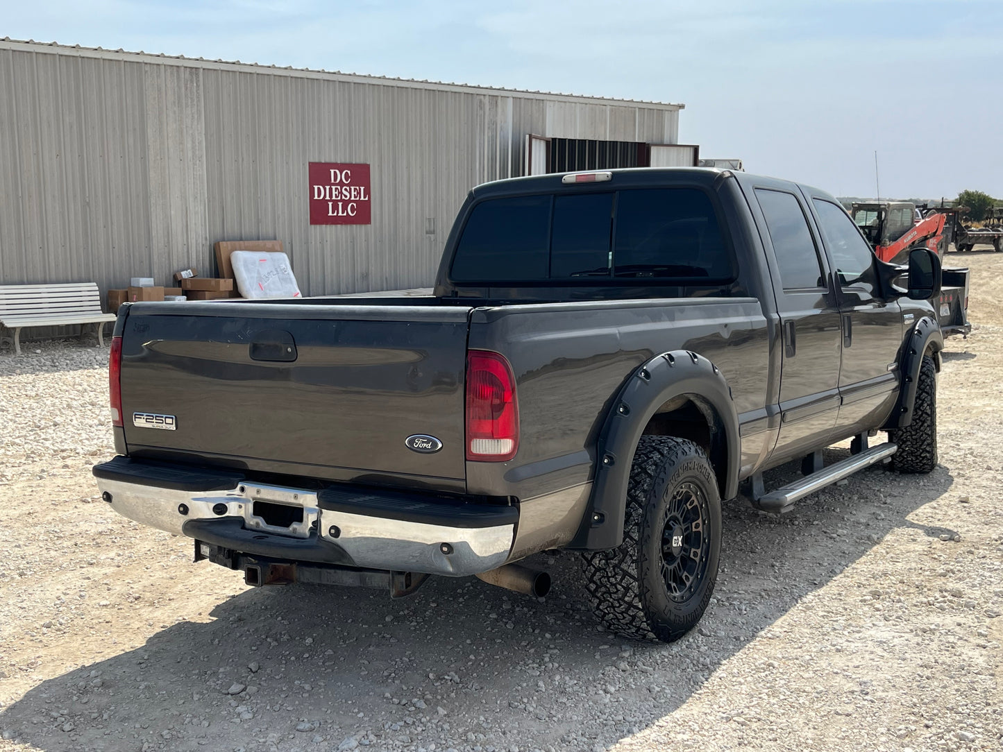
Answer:
<path fill-rule="evenodd" d="M 973 270 L 976 328 L 945 352 L 940 466 L 779 519 L 728 504 L 715 599 L 670 646 L 598 629 L 570 554 L 539 558 L 539 603 L 193 565 L 96 494 L 106 352 L 5 349 L 0 750 L 1001 749 L 1003 254 L 948 262 Z"/>

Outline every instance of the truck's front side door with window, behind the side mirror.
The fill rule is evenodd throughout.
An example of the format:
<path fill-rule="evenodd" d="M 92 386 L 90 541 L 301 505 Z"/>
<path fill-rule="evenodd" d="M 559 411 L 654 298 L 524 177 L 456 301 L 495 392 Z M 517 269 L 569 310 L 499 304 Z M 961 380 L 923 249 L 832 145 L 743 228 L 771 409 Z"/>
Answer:
<path fill-rule="evenodd" d="M 840 286 L 838 440 L 885 422 L 898 397 L 902 311 L 880 297 L 875 255 L 843 208 L 818 197 L 811 204 Z"/>

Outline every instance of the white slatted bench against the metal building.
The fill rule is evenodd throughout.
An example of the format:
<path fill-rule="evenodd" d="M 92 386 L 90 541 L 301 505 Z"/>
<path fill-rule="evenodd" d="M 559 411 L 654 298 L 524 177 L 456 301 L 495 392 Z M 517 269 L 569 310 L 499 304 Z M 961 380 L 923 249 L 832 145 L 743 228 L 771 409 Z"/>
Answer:
<path fill-rule="evenodd" d="M 93 282 L 0 285 L 0 326 L 13 330 L 14 352 L 18 355 L 24 327 L 96 324 L 97 342 L 103 346 L 104 324 L 114 320 L 114 314 L 101 311 L 101 294 Z"/>

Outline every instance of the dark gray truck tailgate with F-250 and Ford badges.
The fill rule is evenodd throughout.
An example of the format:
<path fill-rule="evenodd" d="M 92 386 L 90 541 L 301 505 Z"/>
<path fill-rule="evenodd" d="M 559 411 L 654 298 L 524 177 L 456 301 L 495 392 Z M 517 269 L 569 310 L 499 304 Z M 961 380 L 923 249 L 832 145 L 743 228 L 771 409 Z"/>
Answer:
<path fill-rule="evenodd" d="M 129 454 L 361 482 L 421 476 L 455 489 L 468 312 L 133 304 L 122 328 Z M 174 416 L 175 428 L 148 427 L 157 421 L 147 415 Z M 414 434 L 441 449 L 409 448 Z"/>

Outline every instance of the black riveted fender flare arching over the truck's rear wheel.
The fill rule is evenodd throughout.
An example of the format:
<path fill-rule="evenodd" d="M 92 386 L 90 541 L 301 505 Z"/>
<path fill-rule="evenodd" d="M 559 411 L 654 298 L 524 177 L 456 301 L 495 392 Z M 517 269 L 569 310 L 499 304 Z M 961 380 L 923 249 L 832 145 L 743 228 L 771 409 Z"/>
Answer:
<path fill-rule="evenodd" d="M 648 421 L 673 397 L 699 398 L 701 412 L 712 409 L 723 431 L 727 466 L 721 497 L 738 493 L 740 439 L 738 414 L 721 371 L 697 353 L 674 350 L 638 368 L 617 394 L 597 442 L 592 496 L 571 548 L 613 548 L 624 534 L 624 508 L 634 451 Z M 706 414 L 706 412 L 705 412 Z M 717 470 L 718 468 L 715 468 Z M 718 472 L 718 477 L 721 473 Z"/>

